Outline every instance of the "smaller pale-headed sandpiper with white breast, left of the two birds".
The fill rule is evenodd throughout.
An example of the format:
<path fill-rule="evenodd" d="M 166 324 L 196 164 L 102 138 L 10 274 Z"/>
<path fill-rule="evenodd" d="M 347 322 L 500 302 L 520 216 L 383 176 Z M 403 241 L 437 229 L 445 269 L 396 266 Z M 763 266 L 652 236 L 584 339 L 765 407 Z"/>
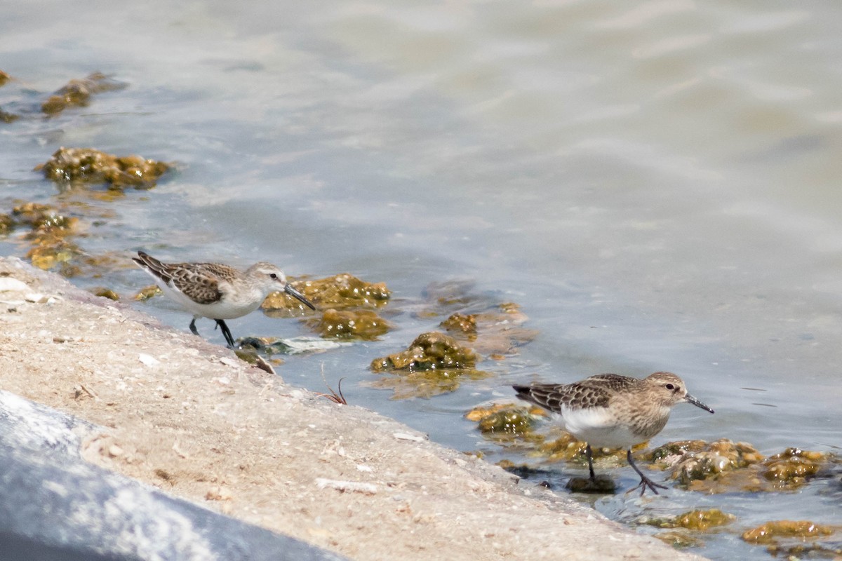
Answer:
<path fill-rule="evenodd" d="M 286 277 L 271 263 L 259 262 L 245 271 L 221 263 L 162 263 L 143 251 L 132 257 L 144 271 L 152 275 L 155 283 L 171 299 L 193 313 L 190 331 L 196 331 L 200 317 L 216 320 L 229 347 L 234 347 L 234 337 L 225 324 L 250 314 L 263 304 L 269 294 L 284 291 L 301 300 L 311 310 L 316 307 L 304 294 L 286 282 Z"/>

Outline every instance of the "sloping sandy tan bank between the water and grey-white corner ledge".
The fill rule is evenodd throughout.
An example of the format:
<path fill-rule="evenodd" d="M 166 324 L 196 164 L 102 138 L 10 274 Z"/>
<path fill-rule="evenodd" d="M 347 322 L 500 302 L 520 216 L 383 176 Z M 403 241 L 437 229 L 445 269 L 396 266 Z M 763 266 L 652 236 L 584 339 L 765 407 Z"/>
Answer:
<path fill-rule="evenodd" d="M 83 456 L 170 495 L 360 560 L 698 558 L 18 259 L 0 281 L 0 389 L 101 426 Z"/>

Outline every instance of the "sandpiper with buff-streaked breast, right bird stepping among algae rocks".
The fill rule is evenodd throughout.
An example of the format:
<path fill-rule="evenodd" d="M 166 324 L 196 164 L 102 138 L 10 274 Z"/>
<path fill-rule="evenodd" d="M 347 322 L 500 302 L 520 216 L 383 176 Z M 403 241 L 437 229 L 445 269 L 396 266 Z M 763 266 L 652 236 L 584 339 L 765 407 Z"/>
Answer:
<path fill-rule="evenodd" d="M 588 443 L 585 454 L 591 481 L 595 481 L 591 445 L 626 448 L 629 465 L 640 475 L 637 487 L 641 488 L 641 496 L 647 487 L 655 495 L 658 495 L 656 487 L 666 487 L 653 482 L 637 468 L 632 459 L 632 446 L 658 434 L 676 404 L 691 403 L 713 413 L 710 407 L 687 393 L 681 378 L 669 372 L 656 372 L 642 380 L 618 374 L 597 374 L 573 384 L 512 387 L 521 400 L 560 415 L 565 429 Z"/>

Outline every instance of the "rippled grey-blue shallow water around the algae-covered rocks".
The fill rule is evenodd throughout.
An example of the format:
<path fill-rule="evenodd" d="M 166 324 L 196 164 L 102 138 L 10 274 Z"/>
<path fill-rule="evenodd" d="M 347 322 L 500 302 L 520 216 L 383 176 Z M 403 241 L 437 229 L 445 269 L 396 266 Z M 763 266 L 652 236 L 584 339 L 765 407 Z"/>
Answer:
<path fill-rule="evenodd" d="M 31 169 L 58 146 L 178 162 L 151 191 L 58 197 L 86 205 L 78 243 L 385 282 L 394 331 L 289 357 L 280 374 L 317 391 L 322 371 L 334 388 L 345 377 L 349 402 L 492 459 L 506 455 L 461 415 L 510 397 L 509 384 L 662 369 L 717 414 L 679 406 L 655 444 L 839 451 L 842 8 L 311 4 L 5 7 L 0 70 L 19 82 L 0 88 L 3 109 L 24 112 L 92 71 L 128 87 L 0 124 L 3 211 L 18 198 L 56 202 Z M 23 255 L 20 235 L 3 250 Z M 368 364 L 435 328 L 442 318 L 413 306 L 450 279 L 473 283 L 481 302 L 520 304 L 539 335 L 482 363 L 493 378 L 389 400 L 366 385 L 377 379 Z M 147 278 L 127 263 L 74 282 L 129 295 Z M 162 299 L 137 307 L 187 330 L 189 316 Z M 235 336 L 309 334 L 260 314 L 229 323 Z M 199 329 L 222 341 L 212 322 Z M 635 483 L 628 468 L 612 474 L 621 490 Z M 642 505 L 621 493 L 595 506 L 631 523 L 641 507 L 711 502 L 740 527 L 770 512 L 839 524 L 833 484 L 762 497 L 670 490 Z M 704 539 L 711 558 L 768 557 L 733 532 Z"/>

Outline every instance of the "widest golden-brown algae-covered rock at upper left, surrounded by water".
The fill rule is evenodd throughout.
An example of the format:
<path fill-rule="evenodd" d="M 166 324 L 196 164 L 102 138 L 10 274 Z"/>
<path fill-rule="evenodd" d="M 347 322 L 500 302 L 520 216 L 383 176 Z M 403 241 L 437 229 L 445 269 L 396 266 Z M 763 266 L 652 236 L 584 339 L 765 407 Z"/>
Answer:
<path fill-rule="evenodd" d="M 107 183 L 109 188 L 133 187 L 147 189 L 155 186 L 167 172 L 163 161 L 147 160 L 141 156 L 114 156 L 93 148 L 59 148 L 48 161 L 35 167 L 44 176 L 61 184 Z"/>

